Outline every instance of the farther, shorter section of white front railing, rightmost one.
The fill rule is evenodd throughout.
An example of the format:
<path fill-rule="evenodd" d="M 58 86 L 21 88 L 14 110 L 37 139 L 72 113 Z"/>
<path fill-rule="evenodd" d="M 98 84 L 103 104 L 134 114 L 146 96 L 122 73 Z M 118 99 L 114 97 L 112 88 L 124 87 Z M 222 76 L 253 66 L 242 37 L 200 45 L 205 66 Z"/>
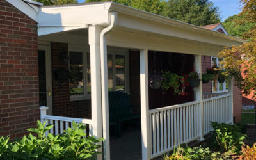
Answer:
<path fill-rule="evenodd" d="M 204 134 L 212 131 L 210 122 L 231 123 L 232 104 L 231 94 L 220 95 L 203 100 L 204 106 Z"/>

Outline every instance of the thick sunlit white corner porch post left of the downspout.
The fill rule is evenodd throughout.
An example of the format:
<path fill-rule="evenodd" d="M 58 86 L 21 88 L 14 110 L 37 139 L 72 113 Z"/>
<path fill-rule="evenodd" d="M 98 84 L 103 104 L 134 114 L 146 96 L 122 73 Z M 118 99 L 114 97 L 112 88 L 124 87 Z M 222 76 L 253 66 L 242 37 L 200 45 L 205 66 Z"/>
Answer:
<path fill-rule="evenodd" d="M 91 108 L 92 108 L 92 134 L 102 138 L 102 108 L 101 108 L 101 81 L 100 81 L 100 29 L 97 26 L 89 26 L 89 45 L 91 63 Z M 102 148 L 99 150 L 102 152 Z M 102 154 L 97 156 L 102 159 Z"/>

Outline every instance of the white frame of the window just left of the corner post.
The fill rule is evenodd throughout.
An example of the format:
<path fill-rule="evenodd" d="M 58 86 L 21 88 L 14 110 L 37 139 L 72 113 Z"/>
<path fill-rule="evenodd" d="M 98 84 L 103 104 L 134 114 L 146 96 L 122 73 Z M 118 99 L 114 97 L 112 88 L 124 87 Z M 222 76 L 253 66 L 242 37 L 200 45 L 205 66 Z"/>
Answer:
<path fill-rule="evenodd" d="M 74 44 L 68 44 L 68 56 L 70 52 L 82 52 L 83 53 L 83 78 L 84 78 L 84 93 L 83 95 L 70 95 L 70 90 L 69 90 L 69 95 L 70 95 L 70 101 L 77 101 L 77 100 L 85 100 L 85 99 L 90 99 L 91 94 L 88 94 L 87 90 L 87 83 L 88 83 L 88 77 L 87 77 L 87 54 L 90 54 L 90 51 L 88 47 L 84 45 L 74 45 Z M 68 60 L 68 70 L 70 68 L 70 61 Z"/>

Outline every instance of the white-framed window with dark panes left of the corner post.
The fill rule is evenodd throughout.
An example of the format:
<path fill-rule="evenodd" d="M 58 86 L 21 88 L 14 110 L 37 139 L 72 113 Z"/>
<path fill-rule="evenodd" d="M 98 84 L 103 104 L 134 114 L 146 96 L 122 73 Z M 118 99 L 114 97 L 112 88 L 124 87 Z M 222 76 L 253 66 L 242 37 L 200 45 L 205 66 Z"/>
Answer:
<path fill-rule="evenodd" d="M 90 53 L 83 49 L 70 49 L 69 72 L 70 99 L 90 98 Z"/>

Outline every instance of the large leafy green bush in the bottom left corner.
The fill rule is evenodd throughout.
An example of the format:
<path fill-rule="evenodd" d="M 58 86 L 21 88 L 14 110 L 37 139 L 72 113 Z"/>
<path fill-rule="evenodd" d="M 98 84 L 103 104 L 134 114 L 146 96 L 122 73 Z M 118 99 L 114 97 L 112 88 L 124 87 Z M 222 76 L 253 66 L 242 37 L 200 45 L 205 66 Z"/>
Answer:
<path fill-rule="evenodd" d="M 37 128 L 28 129 L 37 136 L 29 134 L 13 142 L 8 137 L 0 137 L 0 159 L 90 159 L 100 153 L 97 148 L 102 139 L 86 136 L 83 124 L 72 122 L 72 129 L 57 136 L 50 133 L 45 136 L 53 127 L 45 124 L 37 121 Z"/>

